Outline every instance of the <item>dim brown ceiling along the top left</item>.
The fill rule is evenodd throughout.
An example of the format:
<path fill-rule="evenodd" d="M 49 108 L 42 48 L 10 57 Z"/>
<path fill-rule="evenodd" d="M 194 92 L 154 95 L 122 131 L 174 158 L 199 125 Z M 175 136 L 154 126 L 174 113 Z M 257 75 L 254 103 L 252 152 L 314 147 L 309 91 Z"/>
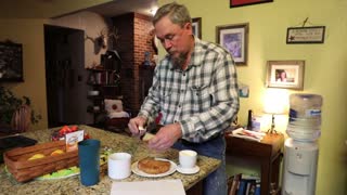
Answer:
<path fill-rule="evenodd" d="M 137 12 L 150 15 L 157 0 L 1 0 L 0 18 L 57 18 L 80 11 L 105 17 Z"/>

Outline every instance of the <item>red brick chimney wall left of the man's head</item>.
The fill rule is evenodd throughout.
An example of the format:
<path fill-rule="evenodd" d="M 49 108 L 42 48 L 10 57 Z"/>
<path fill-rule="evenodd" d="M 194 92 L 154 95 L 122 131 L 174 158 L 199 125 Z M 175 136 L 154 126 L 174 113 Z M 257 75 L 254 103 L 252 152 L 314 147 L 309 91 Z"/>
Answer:
<path fill-rule="evenodd" d="M 121 92 L 125 106 L 136 115 L 143 101 L 143 79 L 140 77 L 140 66 L 144 62 L 146 51 L 154 54 L 152 48 L 153 29 L 151 17 L 138 13 L 128 13 L 113 18 L 118 29 L 119 39 L 115 49 L 121 57 Z M 152 58 L 152 57 L 151 57 Z"/>

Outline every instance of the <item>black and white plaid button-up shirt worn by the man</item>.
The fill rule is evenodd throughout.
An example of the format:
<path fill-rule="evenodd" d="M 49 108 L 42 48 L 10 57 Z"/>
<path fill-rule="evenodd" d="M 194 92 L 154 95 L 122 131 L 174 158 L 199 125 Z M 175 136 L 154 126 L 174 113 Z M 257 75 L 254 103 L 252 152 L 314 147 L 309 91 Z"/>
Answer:
<path fill-rule="evenodd" d="M 166 55 L 156 66 L 153 84 L 139 116 L 151 122 L 180 122 L 182 139 L 204 142 L 226 130 L 239 112 L 236 69 L 223 48 L 195 38 L 185 70 L 175 69 Z"/>

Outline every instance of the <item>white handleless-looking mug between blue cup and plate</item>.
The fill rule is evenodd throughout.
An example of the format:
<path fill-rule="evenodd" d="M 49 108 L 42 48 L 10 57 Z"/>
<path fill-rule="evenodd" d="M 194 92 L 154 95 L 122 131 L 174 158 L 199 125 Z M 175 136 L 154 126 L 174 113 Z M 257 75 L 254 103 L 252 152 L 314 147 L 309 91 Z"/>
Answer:
<path fill-rule="evenodd" d="M 114 180 L 126 179 L 131 173 L 131 155 L 128 153 L 114 153 L 108 156 L 108 177 Z"/>

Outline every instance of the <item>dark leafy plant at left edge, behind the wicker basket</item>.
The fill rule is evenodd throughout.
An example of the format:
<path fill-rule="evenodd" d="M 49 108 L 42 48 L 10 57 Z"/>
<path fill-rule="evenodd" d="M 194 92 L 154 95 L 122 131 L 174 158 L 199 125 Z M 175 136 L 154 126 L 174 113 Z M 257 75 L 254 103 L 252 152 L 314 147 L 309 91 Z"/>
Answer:
<path fill-rule="evenodd" d="M 9 89 L 0 87 L 0 127 L 23 132 L 30 123 L 37 123 L 41 116 L 31 109 L 30 104 L 29 98 L 16 98 Z"/>

